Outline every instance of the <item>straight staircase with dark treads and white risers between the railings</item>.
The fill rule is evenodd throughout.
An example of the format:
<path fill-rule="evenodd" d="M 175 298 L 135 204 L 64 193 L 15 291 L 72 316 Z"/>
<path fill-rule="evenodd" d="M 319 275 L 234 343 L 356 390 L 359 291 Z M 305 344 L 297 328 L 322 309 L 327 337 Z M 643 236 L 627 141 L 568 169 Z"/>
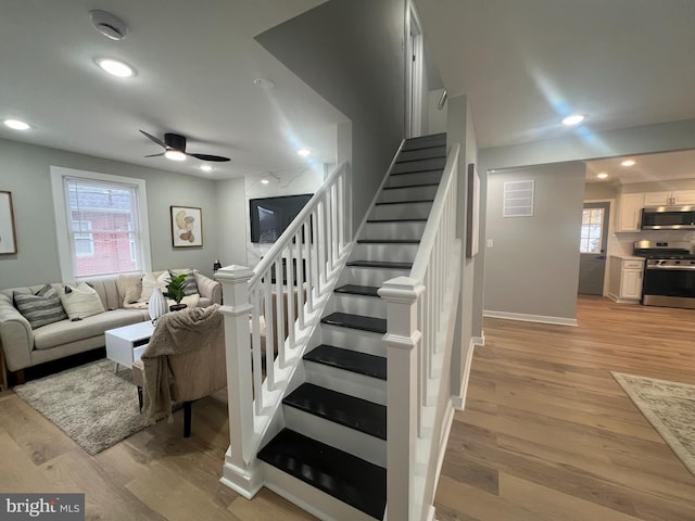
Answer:
<path fill-rule="evenodd" d="M 402 145 L 263 433 L 253 463 L 262 484 L 324 520 L 386 519 L 389 325 L 379 290 L 410 276 L 445 142 L 435 135 Z"/>

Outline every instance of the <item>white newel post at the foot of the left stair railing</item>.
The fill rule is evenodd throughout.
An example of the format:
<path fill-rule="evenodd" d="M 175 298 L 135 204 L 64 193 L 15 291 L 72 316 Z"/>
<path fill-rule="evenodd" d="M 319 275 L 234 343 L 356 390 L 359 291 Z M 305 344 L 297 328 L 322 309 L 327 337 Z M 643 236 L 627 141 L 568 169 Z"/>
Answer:
<path fill-rule="evenodd" d="M 219 480 L 248 499 L 261 488 L 254 455 L 248 454 L 254 439 L 251 341 L 249 338 L 249 280 L 253 271 L 245 266 L 227 266 L 215 279 L 223 285 L 225 344 L 227 348 L 227 399 L 230 446 Z"/>

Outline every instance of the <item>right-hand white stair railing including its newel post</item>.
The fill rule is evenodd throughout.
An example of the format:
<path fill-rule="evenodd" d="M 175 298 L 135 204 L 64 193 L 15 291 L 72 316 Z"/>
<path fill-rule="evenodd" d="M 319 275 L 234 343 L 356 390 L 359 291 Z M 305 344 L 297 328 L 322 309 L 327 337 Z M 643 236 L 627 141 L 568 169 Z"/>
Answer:
<path fill-rule="evenodd" d="M 460 291 L 457 239 L 459 145 L 452 147 L 408 277 L 388 280 L 387 511 L 390 520 L 433 518 L 442 435 L 451 412 L 448 370 Z"/>

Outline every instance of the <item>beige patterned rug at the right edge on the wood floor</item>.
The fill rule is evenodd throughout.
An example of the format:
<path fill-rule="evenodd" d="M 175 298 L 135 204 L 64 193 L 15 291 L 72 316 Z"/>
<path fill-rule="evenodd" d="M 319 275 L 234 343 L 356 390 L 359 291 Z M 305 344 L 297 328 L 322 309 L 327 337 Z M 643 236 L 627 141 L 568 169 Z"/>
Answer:
<path fill-rule="evenodd" d="M 621 372 L 611 374 L 695 475 L 695 385 Z"/>

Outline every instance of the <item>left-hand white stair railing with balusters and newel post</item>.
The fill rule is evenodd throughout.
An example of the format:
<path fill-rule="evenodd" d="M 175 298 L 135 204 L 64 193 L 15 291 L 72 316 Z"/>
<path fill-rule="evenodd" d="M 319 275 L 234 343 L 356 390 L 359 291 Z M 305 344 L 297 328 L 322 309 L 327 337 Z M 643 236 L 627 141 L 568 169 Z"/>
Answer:
<path fill-rule="evenodd" d="M 320 320 L 352 241 L 350 167 L 339 164 L 261 263 L 219 269 L 231 444 L 223 483 L 245 497 L 263 485 L 256 453 Z"/>

